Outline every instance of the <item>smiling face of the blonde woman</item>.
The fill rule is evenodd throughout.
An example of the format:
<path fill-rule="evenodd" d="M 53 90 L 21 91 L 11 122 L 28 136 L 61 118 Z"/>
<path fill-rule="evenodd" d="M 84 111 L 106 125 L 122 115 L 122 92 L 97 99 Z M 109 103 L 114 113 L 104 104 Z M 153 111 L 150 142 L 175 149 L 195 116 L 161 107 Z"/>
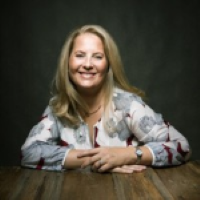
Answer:
<path fill-rule="evenodd" d="M 101 39 L 92 33 L 79 35 L 69 57 L 69 76 L 79 92 L 101 88 L 108 64 Z"/>

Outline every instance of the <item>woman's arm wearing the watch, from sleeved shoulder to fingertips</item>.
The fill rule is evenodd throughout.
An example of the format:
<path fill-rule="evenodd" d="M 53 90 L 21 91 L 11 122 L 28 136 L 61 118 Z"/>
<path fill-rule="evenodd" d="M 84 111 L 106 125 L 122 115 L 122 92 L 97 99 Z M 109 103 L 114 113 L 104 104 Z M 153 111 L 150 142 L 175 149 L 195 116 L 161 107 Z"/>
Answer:
<path fill-rule="evenodd" d="M 140 146 L 143 151 L 141 165 L 178 165 L 188 159 L 190 149 L 187 139 L 166 123 L 161 115 L 155 113 L 141 100 L 134 99 L 130 104 L 122 102 L 122 105 L 127 105 L 123 120 L 139 143 L 143 144 Z M 91 156 L 90 161 L 86 161 L 82 166 L 92 165 L 99 171 L 136 163 L 135 147 L 132 146 L 85 150 L 78 156 Z"/>

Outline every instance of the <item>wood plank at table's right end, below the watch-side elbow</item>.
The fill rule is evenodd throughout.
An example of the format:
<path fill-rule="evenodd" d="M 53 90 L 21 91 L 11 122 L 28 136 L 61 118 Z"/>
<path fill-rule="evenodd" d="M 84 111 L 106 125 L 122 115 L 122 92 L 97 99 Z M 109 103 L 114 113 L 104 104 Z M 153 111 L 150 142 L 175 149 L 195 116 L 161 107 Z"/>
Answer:
<path fill-rule="evenodd" d="M 192 166 L 192 167 L 191 167 Z M 166 169 L 154 169 L 174 199 L 200 199 L 199 167 L 187 163 Z"/>

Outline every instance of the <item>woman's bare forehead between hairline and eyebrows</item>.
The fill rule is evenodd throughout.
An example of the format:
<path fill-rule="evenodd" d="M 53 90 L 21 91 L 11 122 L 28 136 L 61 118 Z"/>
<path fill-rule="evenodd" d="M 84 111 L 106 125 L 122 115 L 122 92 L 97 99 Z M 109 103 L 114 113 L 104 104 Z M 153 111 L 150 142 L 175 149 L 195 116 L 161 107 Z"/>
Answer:
<path fill-rule="evenodd" d="M 90 47 L 104 49 L 104 44 L 99 36 L 93 33 L 82 33 L 74 40 L 73 48 Z"/>

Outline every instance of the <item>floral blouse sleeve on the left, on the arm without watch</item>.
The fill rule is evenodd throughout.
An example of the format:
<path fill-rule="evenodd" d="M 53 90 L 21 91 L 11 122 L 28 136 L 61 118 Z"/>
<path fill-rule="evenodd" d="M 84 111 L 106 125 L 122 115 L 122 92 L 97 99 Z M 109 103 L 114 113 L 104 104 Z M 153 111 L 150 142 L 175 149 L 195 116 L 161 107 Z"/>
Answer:
<path fill-rule="evenodd" d="M 35 169 L 62 171 L 69 147 L 60 145 L 61 123 L 48 106 L 41 121 L 29 132 L 21 147 L 21 165 Z"/>

